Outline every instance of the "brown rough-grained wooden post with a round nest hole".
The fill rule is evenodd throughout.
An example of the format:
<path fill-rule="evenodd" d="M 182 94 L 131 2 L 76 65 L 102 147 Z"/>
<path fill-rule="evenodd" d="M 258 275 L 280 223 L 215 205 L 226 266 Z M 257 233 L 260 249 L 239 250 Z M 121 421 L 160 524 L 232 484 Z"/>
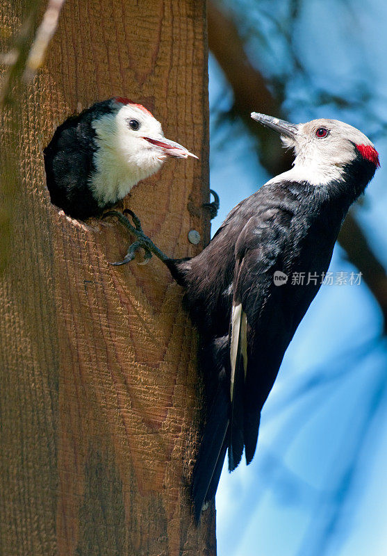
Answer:
<path fill-rule="evenodd" d="M 0 40 L 27 3 L 1 0 Z M 68 0 L 46 67 L 3 115 L 5 133 L 17 119 L 22 188 L 0 284 L 7 556 L 215 555 L 214 508 L 199 528 L 190 513 L 201 387 L 181 288 L 155 258 L 109 265 L 126 231 L 66 218 L 45 187 L 56 125 L 114 95 L 199 156 L 168 161 L 122 205 L 170 256 L 197 254 L 209 233 L 205 0 Z"/>

